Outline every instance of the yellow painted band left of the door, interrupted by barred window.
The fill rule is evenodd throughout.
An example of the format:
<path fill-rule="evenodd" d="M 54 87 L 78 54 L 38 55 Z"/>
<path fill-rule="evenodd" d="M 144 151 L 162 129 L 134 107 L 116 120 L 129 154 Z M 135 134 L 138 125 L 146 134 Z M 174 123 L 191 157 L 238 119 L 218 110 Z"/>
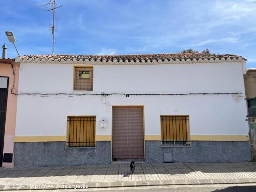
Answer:
<path fill-rule="evenodd" d="M 15 136 L 14 142 L 66 141 L 67 136 Z M 96 135 L 95 141 L 111 141 L 111 135 Z"/>

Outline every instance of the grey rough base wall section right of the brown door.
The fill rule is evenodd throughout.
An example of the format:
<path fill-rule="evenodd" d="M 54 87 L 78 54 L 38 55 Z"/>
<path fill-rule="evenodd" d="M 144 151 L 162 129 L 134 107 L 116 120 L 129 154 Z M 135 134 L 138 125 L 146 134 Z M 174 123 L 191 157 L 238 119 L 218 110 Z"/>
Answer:
<path fill-rule="evenodd" d="M 191 141 L 189 147 L 161 147 L 161 141 L 146 141 L 145 150 L 148 163 L 251 160 L 248 141 Z"/>

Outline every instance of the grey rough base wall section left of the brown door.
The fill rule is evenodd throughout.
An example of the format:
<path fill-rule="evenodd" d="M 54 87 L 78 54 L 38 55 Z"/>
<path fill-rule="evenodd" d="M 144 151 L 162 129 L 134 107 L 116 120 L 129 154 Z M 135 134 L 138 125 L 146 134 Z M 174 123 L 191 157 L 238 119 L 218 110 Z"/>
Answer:
<path fill-rule="evenodd" d="M 111 141 L 94 148 L 66 148 L 66 142 L 14 143 L 14 167 L 75 166 L 111 163 Z"/>

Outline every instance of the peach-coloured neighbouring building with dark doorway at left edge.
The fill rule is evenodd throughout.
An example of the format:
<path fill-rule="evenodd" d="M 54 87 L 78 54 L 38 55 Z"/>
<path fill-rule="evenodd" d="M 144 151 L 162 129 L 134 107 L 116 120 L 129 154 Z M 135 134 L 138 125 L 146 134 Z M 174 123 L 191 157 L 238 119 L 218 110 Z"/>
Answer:
<path fill-rule="evenodd" d="M 14 75 L 15 74 L 15 75 Z M 0 59 L 0 166 L 13 167 L 19 66 Z"/>

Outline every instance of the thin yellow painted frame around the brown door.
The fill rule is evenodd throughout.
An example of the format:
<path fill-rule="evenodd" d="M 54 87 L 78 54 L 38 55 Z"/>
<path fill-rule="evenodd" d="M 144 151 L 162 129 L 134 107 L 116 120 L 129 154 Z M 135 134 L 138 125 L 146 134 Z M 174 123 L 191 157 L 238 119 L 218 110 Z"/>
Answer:
<path fill-rule="evenodd" d="M 145 113 L 144 113 L 144 106 L 141 105 L 141 106 L 127 106 L 127 105 L 124 105 L 124 106 L 112 106 L 112 126 L 111 126 L 111 163 L 113 162 L 116 162 L 116 161 L 113 161 L 113 108 L 115 107 L 141 107 L 142 108 L 142 120 L 143 120 L 143 145 L 144 145 L 144 161 L 140 161 L 140 162 L 146 162 L 146 152 L 145 152 Z"/>

